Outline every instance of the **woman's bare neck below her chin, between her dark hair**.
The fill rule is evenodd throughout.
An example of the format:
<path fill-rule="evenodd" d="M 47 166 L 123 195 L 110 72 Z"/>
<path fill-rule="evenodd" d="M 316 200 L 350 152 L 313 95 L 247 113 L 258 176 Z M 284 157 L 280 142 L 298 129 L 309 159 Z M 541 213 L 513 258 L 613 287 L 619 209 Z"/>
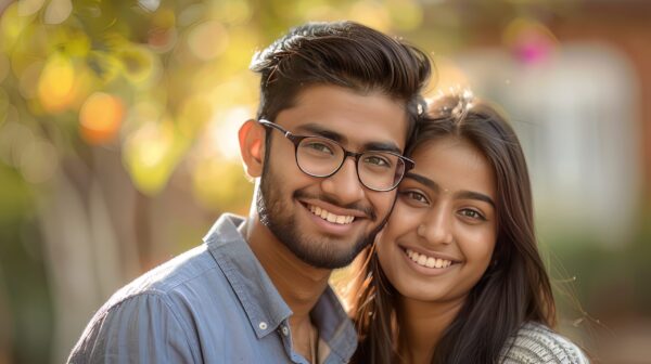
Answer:
<path fill-rule="evenodd" d="M 452 323 L 464 299 L 427 302 L 403 297 L 398 303 L 398 351 L 406 363 L 431 363 L 445 329 Z"/>

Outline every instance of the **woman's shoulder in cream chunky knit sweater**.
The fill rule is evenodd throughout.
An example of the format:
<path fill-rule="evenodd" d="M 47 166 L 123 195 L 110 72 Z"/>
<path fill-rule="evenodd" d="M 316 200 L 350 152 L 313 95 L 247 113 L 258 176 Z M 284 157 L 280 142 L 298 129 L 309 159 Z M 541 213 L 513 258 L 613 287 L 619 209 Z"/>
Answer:
<path fill-rule="evenodd" d="M 584 364 L 584 352 L 567 338 L 539 323 L 526 323 L 509 339 L 501 354 L 503 364 Z"/>

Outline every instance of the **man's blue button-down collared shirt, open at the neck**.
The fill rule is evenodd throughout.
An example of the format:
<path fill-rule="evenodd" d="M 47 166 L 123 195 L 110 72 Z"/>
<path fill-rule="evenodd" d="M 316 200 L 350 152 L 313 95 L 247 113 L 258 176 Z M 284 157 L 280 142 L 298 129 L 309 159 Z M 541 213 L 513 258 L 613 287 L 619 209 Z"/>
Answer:
<path fill-rule="evenodd" d="M 118 290 L 95 313 L 69 363 L 307 363 L 292 350 L 284 302 L 225 214 L 203 245 Z M 320 363 L 346 363 L 357 336 L 330 287 L 311 311 Z"/>

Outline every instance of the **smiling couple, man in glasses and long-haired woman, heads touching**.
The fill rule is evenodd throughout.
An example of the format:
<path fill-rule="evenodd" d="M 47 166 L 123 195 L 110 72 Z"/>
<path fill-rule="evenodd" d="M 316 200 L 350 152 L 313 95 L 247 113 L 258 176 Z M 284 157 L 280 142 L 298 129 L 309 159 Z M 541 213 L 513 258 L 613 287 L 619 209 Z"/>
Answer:
<path fill-rule="evenodd" d="M 252 69 L 250 216 L 117 291 L 68 362 L 587 362 L 549 328 L 524 157 L 493 108 L 425 109 L 427 56 L 350 22 L 294 28 Z M 328 280 L 358 255 L 346 313 Z"/>

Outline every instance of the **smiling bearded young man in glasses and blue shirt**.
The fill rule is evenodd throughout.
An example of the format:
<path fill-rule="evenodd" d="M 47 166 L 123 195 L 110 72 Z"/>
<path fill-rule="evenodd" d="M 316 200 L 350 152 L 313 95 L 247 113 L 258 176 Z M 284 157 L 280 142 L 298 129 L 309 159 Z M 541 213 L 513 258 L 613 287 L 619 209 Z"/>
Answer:
<path fill-rule="evenodd" d="M 306 24 L 254 56 L 246 219 L 116 292 L 72 363 L 344 363 L 357 338 L 328 286 L 384 224 L 430 76 L 417 49 L 350 22 Z"/>

